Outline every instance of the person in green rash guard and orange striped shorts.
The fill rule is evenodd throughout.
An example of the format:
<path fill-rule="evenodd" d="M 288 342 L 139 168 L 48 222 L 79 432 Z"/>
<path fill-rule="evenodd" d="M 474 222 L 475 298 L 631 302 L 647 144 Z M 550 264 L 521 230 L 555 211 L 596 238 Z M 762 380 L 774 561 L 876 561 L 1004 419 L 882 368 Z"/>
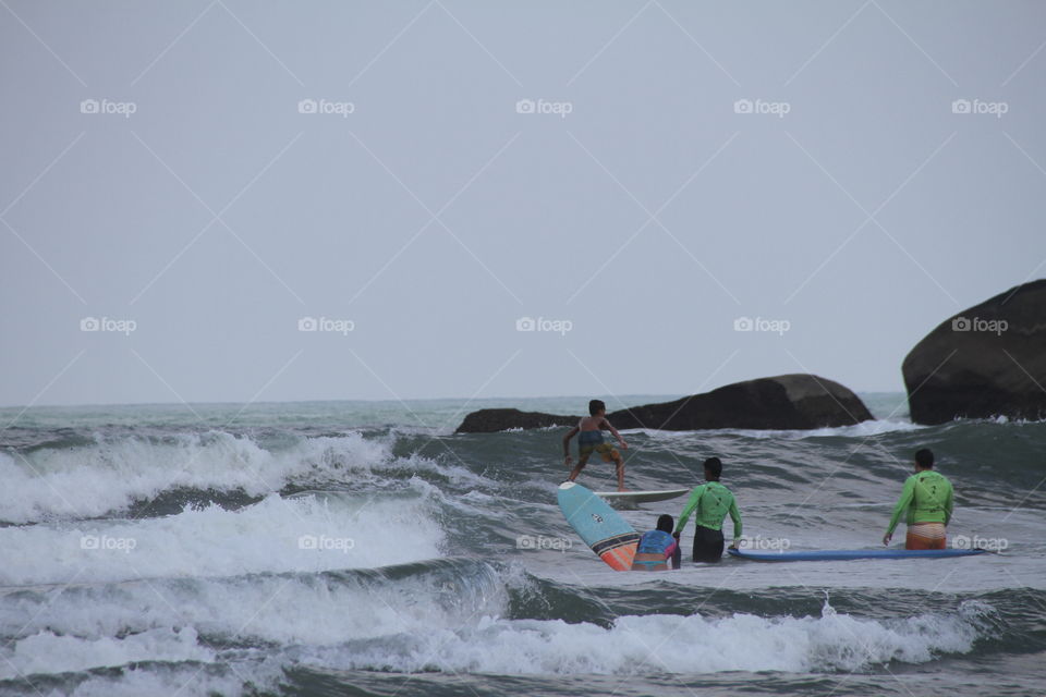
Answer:
<path fill-rule="evenodd" d="M 924 448 L 915 453 L 915 474 L 904 481 L 901 498 L 883 536 L 889 545 L 901 515 L 907 511 L 904 549 L 945 549 L 945 528 L 953 510 L 951 482 L 934 472 L 934 453 Z"/>

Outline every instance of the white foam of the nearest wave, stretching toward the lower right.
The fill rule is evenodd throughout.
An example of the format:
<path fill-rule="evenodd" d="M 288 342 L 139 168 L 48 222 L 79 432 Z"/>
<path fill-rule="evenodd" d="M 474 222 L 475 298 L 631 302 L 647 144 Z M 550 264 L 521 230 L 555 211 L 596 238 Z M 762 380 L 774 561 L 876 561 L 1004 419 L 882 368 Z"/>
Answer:
<path fill-rule="evenodd" d="M 966 653 L 977 638 L 975 608 L 900 621 L 836 614 L 711 620 L 619 617 L 610 628 L 556 621 L 485 617 L 469 629 L 442 627 L 399 644 L 317 651 L 324 667 L 414 672 L 504 674 L 715 673 L 722 671 L 853 671 L 891 660 L 923 663 Z"/>

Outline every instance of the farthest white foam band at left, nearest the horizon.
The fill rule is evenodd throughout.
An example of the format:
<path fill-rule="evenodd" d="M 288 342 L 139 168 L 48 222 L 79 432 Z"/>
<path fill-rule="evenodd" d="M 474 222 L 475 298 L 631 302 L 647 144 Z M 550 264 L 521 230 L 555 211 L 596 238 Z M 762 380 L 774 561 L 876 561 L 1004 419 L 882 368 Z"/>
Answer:
<path fill-rule="evenodd" d="M 303 439 L 275 451 L 222 431 L 182 433 L 162 443 L 99 439 L 88 447 L 28 455 L 0 453 L 0 516 L 11 523 L 95 517 L 177 488 L 263 496 L 291 481 L 358 479 L 390 468 L 482 481 L 458 465 L 394 457 L 390 442 L 354 432 Z"/>

